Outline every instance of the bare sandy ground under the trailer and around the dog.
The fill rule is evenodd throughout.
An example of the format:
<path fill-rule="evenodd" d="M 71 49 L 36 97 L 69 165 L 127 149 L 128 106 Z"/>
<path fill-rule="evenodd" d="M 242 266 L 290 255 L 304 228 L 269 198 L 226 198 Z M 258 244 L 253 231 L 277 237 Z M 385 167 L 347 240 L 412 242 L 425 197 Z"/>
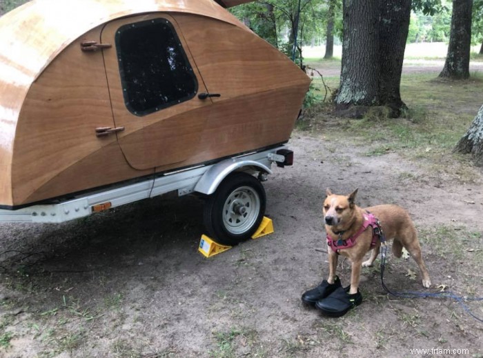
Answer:
<path fill-rule="evenodd" d="M 408 208 L 426 237 L 461 230 L 448 249 L 422 237 L 431 292 L 446 285 L 483 296 L 482 263 L 471 256 L 483 248 L 480 179 L 435 178 L 395 153 L 364 157 L 319 135 L 295 132 L 290 146 L 295 165 L 274 168 L 264 183 L 275 233 L 210 259 L 197 252 L 204 229 L 196 197 L 150 199 L 61 225 L 2 224 L 0 344 L 10 346 L 0 356 L 409 357 L 412 348 L 441 348 L 483 357 L 483 324 L 449 299 L 386 295 L 377 264 L 363 270 L 362 305 L 340 319 L 300 301 L 328 272 L 317 251 L 325 248 L 327 187 L 359 188 L 361 206 Z M 340 266 L 348 284 L 348 263 Z M 411 259 L 390 258 L 385 282 L 424 290 Z M 482 304 L 469 307 L 483 317 Z"/>

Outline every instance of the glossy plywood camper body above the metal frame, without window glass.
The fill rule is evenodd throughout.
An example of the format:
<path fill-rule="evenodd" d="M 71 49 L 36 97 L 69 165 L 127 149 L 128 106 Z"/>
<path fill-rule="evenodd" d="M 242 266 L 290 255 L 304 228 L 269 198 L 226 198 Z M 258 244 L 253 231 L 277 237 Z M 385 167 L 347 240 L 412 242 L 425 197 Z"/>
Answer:
<path fill-rule="evenodd" d="M 195 85 L 140 113 L 126 99 L 119 32 L 161 21 Z M 30 1 L 0 17 L 0 207 L 284 143 L 308 84 L 212 0 Z"/>

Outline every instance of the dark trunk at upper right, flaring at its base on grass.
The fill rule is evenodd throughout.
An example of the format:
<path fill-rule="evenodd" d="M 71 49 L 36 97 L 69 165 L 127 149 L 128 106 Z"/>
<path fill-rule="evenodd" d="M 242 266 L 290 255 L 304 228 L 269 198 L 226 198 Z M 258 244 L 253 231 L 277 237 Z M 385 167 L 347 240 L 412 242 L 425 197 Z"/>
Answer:
<path fill-rule="evenodd" d="M 473 0 L 453 0 L 448 54 L 440 77 L 451 79 L 470 77 L 472 9 Z"/>

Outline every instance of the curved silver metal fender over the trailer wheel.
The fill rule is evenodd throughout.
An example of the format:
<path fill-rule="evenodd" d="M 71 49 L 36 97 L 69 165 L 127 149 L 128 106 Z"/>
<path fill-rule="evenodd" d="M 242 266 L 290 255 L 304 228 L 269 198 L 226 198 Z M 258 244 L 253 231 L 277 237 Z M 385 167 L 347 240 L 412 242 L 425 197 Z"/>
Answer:
<path fill-rule="evenodd" d="M 266 157 L 266 164 L 260 163 L 259 161 L 247 160 L 244 157 L 226 159 L 215 164 L 204 173 L 203 177 L 199 179 L 195 186 L 195 192 L 201 192 L 206 195 L 213 194 L 221 181 L 228 177 L 230 173 L 240 168 L 255 168 L 259 172 L 272 174 L 272 170 L 269 168 L 270 163 L 268 157 Z"/>

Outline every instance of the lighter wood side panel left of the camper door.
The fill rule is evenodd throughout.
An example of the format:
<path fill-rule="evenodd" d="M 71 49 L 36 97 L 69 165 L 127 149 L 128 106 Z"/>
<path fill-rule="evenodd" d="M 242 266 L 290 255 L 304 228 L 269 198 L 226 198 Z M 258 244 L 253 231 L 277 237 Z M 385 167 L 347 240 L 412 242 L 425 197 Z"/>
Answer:
<path fill-rule="evenodd" d="M 99 41 L 100 32 L 98 27 L 72 43 L 32 83 L 12 156 L 16 203 L 77 161 L 117 143 L 115 135 L 95 135 L 97 127 L 114 126 L 102 54 L 80 50 L 81 41 Z M 92 172 L 99 169 L 93 167 Z"/>

